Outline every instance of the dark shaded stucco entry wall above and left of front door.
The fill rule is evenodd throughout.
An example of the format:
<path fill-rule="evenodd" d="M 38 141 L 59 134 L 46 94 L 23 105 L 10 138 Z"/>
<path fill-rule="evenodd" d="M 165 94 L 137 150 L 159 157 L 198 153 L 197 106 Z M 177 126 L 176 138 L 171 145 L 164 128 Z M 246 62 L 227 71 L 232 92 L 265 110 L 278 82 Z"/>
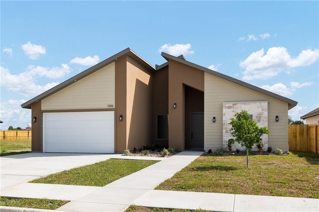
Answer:
<path fill-rule="evenodd" d="M 185 148 L 190 148 L 190 113 L 204 113 L 204 92 L 185 86 Z"/>

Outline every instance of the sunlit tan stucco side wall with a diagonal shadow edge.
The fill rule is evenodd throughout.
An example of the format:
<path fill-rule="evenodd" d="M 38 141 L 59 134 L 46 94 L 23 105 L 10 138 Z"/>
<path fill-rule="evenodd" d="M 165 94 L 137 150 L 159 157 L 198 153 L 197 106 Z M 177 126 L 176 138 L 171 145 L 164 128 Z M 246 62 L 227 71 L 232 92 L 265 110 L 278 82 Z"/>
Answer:
<path fill-rule="evenodd" d="M 152 144 L 153 77 L 141 64 L 127 56 L 126 139 L 127 149 Z"/>

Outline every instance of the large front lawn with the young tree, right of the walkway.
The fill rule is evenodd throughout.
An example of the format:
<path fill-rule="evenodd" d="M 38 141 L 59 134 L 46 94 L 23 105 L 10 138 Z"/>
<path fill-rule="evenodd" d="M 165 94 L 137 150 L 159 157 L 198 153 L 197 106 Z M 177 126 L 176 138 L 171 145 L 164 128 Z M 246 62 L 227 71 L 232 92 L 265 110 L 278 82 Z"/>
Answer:
<path fill-rule="evenodd" d="M 202 155 L 159 190 L 319 198 L 319 155 Z"/>

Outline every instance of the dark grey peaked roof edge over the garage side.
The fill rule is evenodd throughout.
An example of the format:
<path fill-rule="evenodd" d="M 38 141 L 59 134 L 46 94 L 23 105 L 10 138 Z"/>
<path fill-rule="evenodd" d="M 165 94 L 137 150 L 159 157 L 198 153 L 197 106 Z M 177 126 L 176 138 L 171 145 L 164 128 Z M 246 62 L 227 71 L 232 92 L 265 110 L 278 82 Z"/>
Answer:
<path fill-rule="evenodd" d="M 30 99 L 29 101 L 23 103 L 21 105 L 22 108 L 27 108 L 27 109 L 31 109 L 31 105 L 41 99 L 44 99 L 54 93 L 56 93 L 57 91 L 62 90 L 63 88 L 69 86 L 70 84 L 75 83 L 76 81 L 92 74 L 93 72 L 103 68 L 104 66 L 107 66 L 108 64 L 114 62 L 117 58 L 122 57 L 124 55 L 128 55 L 131 58 L 133 58 L 134 60 L 136 60 L 137 62 L 139 62 L 141 65 L 143 65 L 146 69 L 151 70 L 151 71 L 155 71 L 156 69 L 147 61 L 145 61 L 142 57 L 140 57 L 139 55 L 137 55 L 134 51 L 132 51 L 130 48 L 126 48 L 122 51 L 120 51 L 119 53 L 109 57 L 106 60 L 103 60 L 102 62 L 99 62 L 98 64 L 82 71 L 81 73 L 75 75 L 74 77 L 71 77 L 70 79 L 65 80 L 63 83 L 60 83 L 56 86 L 54 86 L 53 88 L 49 89 L 48 91 L 45 91 L 43 93 L 41 93 L 40 95 L 34 97 L 33 99 Z"/>

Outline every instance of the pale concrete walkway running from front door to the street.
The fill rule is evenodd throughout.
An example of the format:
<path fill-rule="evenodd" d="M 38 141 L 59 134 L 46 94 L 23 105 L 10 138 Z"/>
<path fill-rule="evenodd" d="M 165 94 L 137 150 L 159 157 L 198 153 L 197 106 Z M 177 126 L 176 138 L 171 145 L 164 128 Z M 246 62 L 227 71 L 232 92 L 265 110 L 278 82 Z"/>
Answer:
<path fill-rule="evenodd" d="M 138 172 L 118 179 L 104 187 L 85 194 L 57 210 L 64 211 L 123 211 L 138 198 L 172 177 L 203 152 L 184 151 L 168 157 Z"/>

